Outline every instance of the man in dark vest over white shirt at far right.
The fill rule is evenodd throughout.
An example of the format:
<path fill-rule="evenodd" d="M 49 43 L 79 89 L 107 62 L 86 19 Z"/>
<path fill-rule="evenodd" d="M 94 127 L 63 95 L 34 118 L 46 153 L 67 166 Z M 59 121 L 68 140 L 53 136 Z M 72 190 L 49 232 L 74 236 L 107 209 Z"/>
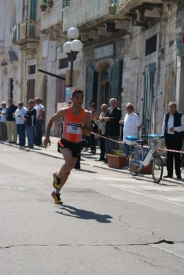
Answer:
<path fill-rule="evenodd" d="M 167 149 L 181 151 L 184 137 L 184 115 L 176 110 L 175 102 L 170 102 L 169 112 L 164 115 L 162 134 L 165 138 Z M 181 159 L 177 152 L 167 151 L 167 175 L 163 178 L 172 178 L 173 176 L 173 159 L 175 164 L 175 173 L 177 179 L 181 179 Z"/>

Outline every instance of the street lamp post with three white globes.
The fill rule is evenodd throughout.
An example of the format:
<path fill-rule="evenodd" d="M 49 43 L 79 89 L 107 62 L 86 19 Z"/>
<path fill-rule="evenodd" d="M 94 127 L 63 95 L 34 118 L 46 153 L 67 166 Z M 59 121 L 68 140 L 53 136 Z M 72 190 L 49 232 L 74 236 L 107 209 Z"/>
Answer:
<path fill-rule="evenodd" d="M 79 30 L 76 28 L 70 28 L 67 32 L 68 38 L 71 42 L 66 42 L 63 45 L 64 52 L 68 55 L 68 60 L 70 61 L 70 83 L 69 87 L 72 87 L 73 82 L 73 62 L 76 59 L 76 54 L 83 48 L 83 43 L 78 40 Z"/>

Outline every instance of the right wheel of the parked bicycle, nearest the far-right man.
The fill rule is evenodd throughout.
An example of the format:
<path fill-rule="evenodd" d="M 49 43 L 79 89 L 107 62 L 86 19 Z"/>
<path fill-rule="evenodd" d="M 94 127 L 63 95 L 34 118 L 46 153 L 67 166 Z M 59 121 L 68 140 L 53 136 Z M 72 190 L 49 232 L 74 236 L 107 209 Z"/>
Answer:
<path fill-rule="evenodd" d="M 154 154 L 152 159 L 152 178 L 155 183 L 159 183 L 163 175 L 163 161 L 159 154 Z"/>

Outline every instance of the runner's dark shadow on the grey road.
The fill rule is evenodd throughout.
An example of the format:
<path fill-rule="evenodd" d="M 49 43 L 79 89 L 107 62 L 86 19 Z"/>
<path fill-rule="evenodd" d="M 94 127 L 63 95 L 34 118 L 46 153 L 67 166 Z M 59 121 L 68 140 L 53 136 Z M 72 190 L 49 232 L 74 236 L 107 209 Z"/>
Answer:
<path fill-rule="evenodd" d="M 78 208 L 72 207 L 70 205 L 64 205 L 63 207 L 61 207 L 61 210 L 68 211 L 68 213 L 70 213 L 70 214 L 63 213 L 63 212 L 56 212 L 56 213 L 61 214 L 63 216 L 71 216 L 74 218 L 81 218 L 83 220 L 96 220 L 99 223 L 111 223 L 111 221 L 108 220 L 109 218 L 112 218 L 112 216 L 110 216 L 110 215 L 96 214 L 92 211 L 78 209 Z"/>

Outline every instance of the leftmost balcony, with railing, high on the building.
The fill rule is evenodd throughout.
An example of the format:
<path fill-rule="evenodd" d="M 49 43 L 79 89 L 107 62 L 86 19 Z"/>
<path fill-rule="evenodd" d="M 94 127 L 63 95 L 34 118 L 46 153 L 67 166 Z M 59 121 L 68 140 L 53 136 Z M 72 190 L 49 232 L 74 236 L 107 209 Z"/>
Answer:
<path fill-rule="evenodd" d="M 21 21 L 13 26 L 12 43 L 14 45 L 23 45 L 24 50 L 37 48 L 39 43 L 39 20 Z"/>

